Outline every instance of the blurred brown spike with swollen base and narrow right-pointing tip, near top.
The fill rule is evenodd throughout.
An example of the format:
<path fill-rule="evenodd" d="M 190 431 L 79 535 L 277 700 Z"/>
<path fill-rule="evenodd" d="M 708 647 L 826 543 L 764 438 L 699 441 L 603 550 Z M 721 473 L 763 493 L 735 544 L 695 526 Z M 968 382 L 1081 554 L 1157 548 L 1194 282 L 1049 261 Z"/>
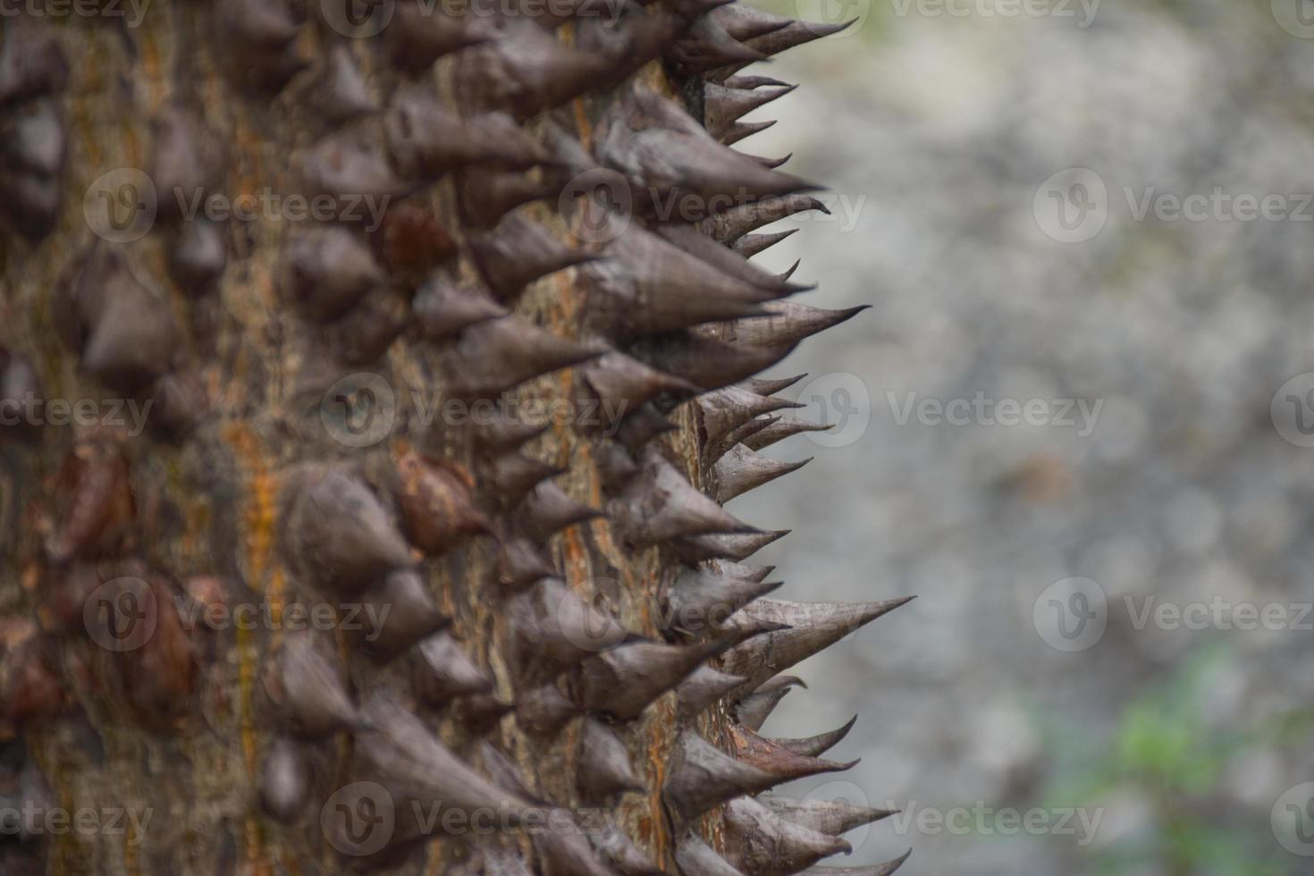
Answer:
<path fill-rule="evenodd" d="M 460 116 L 422 88 L 394 96 L 384 135 L 393 167 L 410 180 L 436 180 L 472 164 L 526 169 L 552 160 L 509 114 Z"/>

